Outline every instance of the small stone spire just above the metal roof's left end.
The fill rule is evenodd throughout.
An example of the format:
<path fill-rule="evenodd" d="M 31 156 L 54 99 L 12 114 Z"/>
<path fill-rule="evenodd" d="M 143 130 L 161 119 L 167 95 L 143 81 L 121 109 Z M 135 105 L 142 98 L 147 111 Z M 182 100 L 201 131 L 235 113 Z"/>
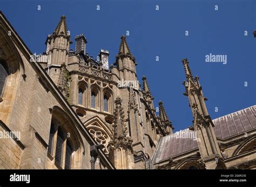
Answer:
<path fill-rule="evenodd" d="M 163 102 L 159 101 L 159 120 L 162 126 L 164 126 L 164 129 L 166 131 L 167 134 L 172 134 L 172 130 L 174 129 L 172 127 L 172 122 L 169 120 L 165 109 L 164 109 L 164 105 Z"/>

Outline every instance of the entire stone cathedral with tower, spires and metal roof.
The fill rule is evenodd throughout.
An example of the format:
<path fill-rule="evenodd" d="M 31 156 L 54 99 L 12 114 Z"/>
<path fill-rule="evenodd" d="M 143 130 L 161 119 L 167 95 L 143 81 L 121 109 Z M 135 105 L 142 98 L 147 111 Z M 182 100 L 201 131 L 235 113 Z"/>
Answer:
<path fill-rule="evenodd" d="M 104 49 L 93 59 L 83 34 L 72 51 L 65 16 L 45 36 L 32 54 L 0 12 L 0 169 L 256 168 L 256 105 L 211 119 L 187 59 L 193 121 L 173 133 L 125 36 L 113 64 Z"/>

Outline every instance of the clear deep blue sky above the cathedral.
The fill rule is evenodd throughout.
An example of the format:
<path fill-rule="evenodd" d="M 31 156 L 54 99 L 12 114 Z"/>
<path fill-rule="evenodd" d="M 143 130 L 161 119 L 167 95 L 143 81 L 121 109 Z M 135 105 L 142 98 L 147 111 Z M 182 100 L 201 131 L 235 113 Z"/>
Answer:
<path fill-rule="evenodd" d="M 71 39 L 75 41 L 75 36 L 83 33 L 88 41 L 86 51 L 96 57 L 101 48 L 109 50 L 110 64 L 115 61 L 120 36 L 129 31 L 126 38 L 138 63 L 138 79 L 142 82 L 142 76 L 147 77 L 154 105 L 163 101 L 174 131 L 192 124 L 188 99 L 183 96 L 181 60 L 185 57 L 192 73 L 200 77 L 212 119 L 256 104 L 256 38 L 252 34 L 256 30 L 256 1 L 11 0 L 1 1 L 0 10 L 37 54 L 45 51 L 46 37 L 62 15 Z M 71 48 L 75 49 L 75 42 Z M 227 63 L 205 62 L 210 53 L 227 55 Z"/>

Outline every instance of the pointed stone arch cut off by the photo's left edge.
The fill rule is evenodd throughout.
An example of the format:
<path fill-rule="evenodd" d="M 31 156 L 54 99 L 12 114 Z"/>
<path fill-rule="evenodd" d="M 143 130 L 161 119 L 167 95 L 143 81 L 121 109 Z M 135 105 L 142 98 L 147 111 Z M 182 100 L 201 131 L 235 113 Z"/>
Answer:
<path fill-rule="evenodd" d="M 8 32 L 0 24 L 0 119 L 6 124 L 14 106 L 19 79 L 25 75 L 22 57 Z"/>

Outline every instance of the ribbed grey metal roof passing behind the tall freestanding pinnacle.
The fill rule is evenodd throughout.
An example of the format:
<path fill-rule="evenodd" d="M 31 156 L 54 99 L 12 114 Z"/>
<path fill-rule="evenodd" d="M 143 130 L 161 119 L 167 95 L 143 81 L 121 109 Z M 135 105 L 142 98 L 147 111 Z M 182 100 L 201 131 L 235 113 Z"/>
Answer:
<path fill-rule="evenodd" d="M 225 139 L 256 128 L 256 105 L 213 119 L 217 138 Z M 196 134 L 187 129 L 160 138 L 153 156 L 153 162 L 198 148 Z"/>

